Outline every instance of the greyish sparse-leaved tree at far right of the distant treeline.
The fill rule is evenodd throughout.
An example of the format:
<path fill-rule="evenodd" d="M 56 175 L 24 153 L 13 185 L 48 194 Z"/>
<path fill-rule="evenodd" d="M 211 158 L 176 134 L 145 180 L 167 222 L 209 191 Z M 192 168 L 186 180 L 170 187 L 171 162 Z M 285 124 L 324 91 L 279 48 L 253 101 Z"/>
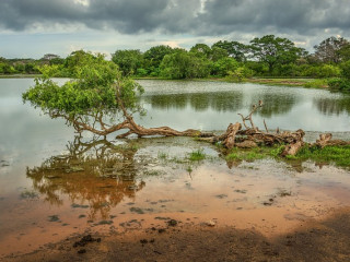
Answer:
<path fill-rule="evenodd" d="M 350 43 L 342 37 L 328 37 L 319 45 L 314 46 L 315 57 L 326 63 L 339 63 L 341 62 L 341 49 L 348 46 Z"/>

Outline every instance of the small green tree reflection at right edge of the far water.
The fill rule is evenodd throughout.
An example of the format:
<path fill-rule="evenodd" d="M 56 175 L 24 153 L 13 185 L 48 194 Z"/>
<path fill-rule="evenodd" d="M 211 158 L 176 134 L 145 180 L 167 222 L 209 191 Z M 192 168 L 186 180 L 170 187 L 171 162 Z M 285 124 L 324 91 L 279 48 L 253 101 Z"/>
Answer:
<path fill-rule="evenodd" d="M 350 96 L 341 97 L 315 97 L 313 104 L 324 115 L 350 114 Z"/>

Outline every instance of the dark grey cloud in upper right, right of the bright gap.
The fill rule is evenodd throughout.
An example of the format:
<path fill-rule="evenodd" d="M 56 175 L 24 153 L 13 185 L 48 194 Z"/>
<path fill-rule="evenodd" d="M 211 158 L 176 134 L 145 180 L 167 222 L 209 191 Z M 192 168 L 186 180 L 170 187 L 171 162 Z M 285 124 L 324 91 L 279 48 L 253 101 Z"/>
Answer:
<path fill-rule="evenodd" d="M 199 16 L 211 33 L 349 31 L 349 0 L 208 0 Z"/>

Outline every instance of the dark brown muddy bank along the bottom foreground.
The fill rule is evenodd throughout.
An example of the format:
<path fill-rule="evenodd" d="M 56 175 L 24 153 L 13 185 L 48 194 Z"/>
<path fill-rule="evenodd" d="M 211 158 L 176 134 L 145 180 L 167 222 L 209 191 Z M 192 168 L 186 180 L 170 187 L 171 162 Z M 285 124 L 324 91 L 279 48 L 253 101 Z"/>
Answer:
<path fill-rule="evenodd" d="M 325 221 L 312 221 L 294 231 L 269 238 L 255 229 L 172 221 L 164 222 L 163 227 L 73 237 L 4 261 L 348 262 L 349 222 L 350 210 L 343 209 Z"/>

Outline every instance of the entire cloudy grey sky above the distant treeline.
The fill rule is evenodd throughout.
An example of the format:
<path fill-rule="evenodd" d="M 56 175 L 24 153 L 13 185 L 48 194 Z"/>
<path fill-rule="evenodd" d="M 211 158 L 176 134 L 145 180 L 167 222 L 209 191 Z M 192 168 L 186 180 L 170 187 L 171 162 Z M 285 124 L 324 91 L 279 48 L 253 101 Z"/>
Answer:
<path fill-rule="evenodd" d="M 0 57 L 248 44 L 275 34 L 312 51 L 350 39 L 350 0 L 0 0 Z"/>

